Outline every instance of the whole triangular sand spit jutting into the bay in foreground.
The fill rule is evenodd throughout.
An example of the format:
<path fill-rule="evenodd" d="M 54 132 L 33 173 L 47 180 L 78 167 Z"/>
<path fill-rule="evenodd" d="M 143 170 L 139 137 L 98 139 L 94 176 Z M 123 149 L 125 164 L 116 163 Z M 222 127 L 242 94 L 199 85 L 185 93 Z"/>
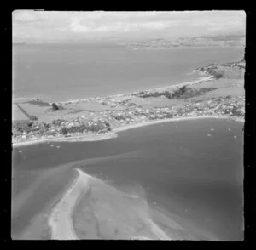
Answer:
<path fill-rule="evenodd" d="M 100 179 L 91 177 L 79 169 L 77 171 L 78 179 L 52 209 L 49 216 L 52 239 L 173 240 L 177 238 L 177 236 L 172 237 L 170 230 L 167 235 L 154 223 L 150 216 L 153 210 L 148 207 L 145 199 L 126 195 Z M 160 216 L 158 218 L 160 219 Z M 164 220 L 162 223 L 165 223 Z M 166 227 L 183 231 L 183 235 L 186 232 L 172 219 L 169 219 Z"/>

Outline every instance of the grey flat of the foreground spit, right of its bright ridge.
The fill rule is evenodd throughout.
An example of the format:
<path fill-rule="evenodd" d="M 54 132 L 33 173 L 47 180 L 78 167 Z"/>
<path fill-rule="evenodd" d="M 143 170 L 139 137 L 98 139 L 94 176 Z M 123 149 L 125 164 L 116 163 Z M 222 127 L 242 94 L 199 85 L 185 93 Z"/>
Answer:
<path fill-rule="evenodd" d="M 89 181 L 90 189 L 73 210 L 80 239 L 171 240 L 150 218 L 145 199 L 129 196 L 100 179 Z"/>

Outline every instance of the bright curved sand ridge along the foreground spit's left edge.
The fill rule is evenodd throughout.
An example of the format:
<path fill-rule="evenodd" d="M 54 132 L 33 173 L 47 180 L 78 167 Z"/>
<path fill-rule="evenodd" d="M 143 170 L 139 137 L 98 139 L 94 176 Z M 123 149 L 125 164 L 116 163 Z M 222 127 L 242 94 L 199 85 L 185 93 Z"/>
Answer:
<path fill-rule="evenodd" d="M 78 179 L 67 191 L 61 202 L 53 209 L 49 217 L 49 225 L 52 230 L 52 239 L 54 240 L 75 240 L 77 236 L 73 230 L 71 214 L 76 200 L 81 192 L 88 188 L 88 175 L 79 171 Z"/>

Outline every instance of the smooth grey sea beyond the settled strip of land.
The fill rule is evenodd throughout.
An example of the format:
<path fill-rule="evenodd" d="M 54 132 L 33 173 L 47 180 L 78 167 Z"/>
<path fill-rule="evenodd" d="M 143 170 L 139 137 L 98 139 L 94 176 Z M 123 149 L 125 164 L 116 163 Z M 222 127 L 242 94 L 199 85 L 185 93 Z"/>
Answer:
<path fill-rule="evenodd" d="M 13 98 L 49 102 L 191 82 L 196 67 L 240 60 L 243 48 L 129 50 L 113 44 L 14 45 Z"/>

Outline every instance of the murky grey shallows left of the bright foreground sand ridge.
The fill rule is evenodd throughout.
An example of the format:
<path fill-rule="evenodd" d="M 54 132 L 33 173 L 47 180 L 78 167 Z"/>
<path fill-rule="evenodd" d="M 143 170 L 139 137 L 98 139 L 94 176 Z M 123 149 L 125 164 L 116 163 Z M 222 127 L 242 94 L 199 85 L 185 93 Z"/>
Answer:
<path fill-rule="evenodd" d="M 76 176 L 70 164 L 39 173 L 32 185 L 12 194 L 12 232 L 15 240 L 51 238 L 49 212 Z"/>

